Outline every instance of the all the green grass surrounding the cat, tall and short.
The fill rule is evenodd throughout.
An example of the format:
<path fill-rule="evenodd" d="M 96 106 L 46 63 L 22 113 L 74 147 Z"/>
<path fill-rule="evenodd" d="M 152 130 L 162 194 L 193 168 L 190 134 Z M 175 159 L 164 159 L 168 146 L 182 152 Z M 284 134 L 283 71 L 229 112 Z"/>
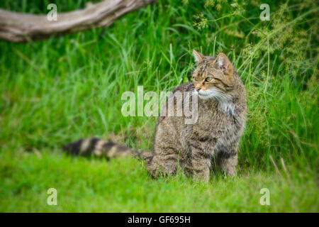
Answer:
<path fill-rule="evenodd" d="M 47 11 L 45 3 L 14 2 L 0 7 Z M 86 1 L 55 2 L 69 11 Z M 261 3 L 243 3 L 226 16 L 233 12 L 228 3 L 218 11 L 204 1 L 159 1 L 110 28 L 1 42 L 0 211 L 318 212 L 318 6 L 269 1 L 271 21 L 262 22 Z M 208 20 L 199 31 L 198 13 Z M 236 179 L 215 173 L 208 184 L 155 180 L 136 160 L 62 153 L 62 145 L 91 136 L 150 150 L 156 118 L 124 117 L 121 94 L 139 85 L 145 92 L 172 91 L 189 82 L 194 48 L 225 52 L 247 88 Z M 46 204 L 51 187 L 57 206 Z M 262 188 L 270 191 L 270 206 L 259 204 Z"/>

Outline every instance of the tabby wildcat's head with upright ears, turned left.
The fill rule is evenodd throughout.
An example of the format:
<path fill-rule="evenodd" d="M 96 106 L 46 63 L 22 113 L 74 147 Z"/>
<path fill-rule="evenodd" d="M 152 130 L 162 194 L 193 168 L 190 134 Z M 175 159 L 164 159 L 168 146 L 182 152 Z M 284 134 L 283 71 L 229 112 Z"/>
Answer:
<path fill-rule="evenodd" d="M 229 101 L 235 89 L 236 75 L 228 57 L 223 52 L 217 57 L 204 56 L 196 50 L 193 50 L 193 55 L 197 63 L 193 82 L 199 98 Z"/>

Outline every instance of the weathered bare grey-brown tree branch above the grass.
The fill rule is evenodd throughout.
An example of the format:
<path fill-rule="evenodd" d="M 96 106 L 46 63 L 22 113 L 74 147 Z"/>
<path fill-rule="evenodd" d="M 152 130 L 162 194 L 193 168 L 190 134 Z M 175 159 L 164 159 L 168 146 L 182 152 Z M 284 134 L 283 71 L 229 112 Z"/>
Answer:
<path fill-rule="evenodd" d="M 47 20 L 47 15 L 14 13 L 0 9 L 0 39 L 13 43 L 42 40 L 90 28 L 111 26 L 125 13 L 135 11 L 157 0 L 104 0 L 88 4 L 85 9 L 59 13 L 57 21 Z"/>

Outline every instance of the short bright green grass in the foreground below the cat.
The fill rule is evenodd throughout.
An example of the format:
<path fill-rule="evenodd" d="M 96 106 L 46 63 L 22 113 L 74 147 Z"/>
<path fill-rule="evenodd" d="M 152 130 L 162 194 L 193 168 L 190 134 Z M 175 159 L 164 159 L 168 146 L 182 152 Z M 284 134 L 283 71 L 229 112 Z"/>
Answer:
<path fill-rule="evenodd" d="M 318 211 L 313 175 L 292 170 L 293 179 L 264 172 L 242 172 L 236 179 L 216 175 L 195 183 L 179 176 L 152 179 L 133 159 L 88 160 L 60 151 L 1 155 L 0 211 L 25 212 L 282 212 Z M 57 189 L 57 206 L 46 204 Z M 261 206 L 268 188 L 270 206 Z"/>

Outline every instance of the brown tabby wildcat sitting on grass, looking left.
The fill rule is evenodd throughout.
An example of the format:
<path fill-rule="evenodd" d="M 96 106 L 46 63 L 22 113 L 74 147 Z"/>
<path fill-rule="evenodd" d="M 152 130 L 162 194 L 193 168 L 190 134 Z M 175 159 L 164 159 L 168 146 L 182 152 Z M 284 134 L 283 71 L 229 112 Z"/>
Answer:
<path fill-rule="evenodd" d="M 193 82 L 181 84 L 176 92 L 198 95 L 198 118 L 185 124 L 185 116 L 159 116 L 152 153 L 125 148 L 98 138 L 82 139 L 64 147 L 74 155 L 107 158 L 133 156 L 143 158 L 153 177 L 175 175 L 178 168 L 194 179 L 207 182 L 210 168 L 235 176 L 237 149 L 244 131 L 247 104 L 245 86 L 228 57 L 216 58 L 193 51 L 196 69 Z M 186 104 L 184 99 L 183 104 Z M 176 105 L 174 106 L 176 108 Z"/>

